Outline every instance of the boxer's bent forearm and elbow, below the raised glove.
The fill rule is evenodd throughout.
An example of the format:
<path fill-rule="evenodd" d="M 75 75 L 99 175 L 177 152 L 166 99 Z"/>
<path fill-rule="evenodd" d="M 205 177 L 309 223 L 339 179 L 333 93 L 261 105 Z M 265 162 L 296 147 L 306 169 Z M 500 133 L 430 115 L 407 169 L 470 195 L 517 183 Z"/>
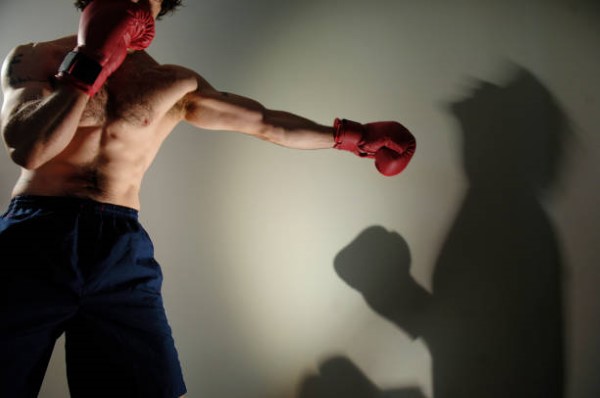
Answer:
<path fill-rule="evenodd" d="M 54 158 L 71 142 L 89 97 L 59 86 L 49 96 L 24 102 L 6 116 L 2 134 L 11 158 L 35 169 Z"/>

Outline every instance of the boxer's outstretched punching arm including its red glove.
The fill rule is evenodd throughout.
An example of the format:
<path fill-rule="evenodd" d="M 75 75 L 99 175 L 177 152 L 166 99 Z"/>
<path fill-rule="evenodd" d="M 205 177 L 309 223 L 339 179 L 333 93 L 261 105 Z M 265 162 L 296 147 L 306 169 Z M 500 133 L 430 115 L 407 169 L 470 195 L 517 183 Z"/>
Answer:
<path fill-rule="evenodd" d="M 289 112 L 215 90 L 197 76 L 198 88 L 185 98 L 185 119 L 205 129 L 238 131 L 297 149 L 336 148 L 375 159 L 380 173 L 393 176 L 406 168 L 416 142 L 400 123 L 360 124 L 336 119 L 324 126 Z"/>

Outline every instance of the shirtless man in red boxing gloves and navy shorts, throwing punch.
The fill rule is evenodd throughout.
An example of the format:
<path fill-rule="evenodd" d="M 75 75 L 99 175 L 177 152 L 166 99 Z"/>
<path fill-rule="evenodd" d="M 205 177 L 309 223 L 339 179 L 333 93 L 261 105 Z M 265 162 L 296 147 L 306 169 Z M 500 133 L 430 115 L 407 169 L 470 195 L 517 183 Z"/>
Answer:
<path fill-rule="evenodd" d="M 335 147 L 401 172 L 415 150 L 396 122 L 324 126 L 214 89 L 144 49 L 180 0 L 80 0 L 77 36 L 20 45 L 2 68 L 0 127 L 21 167 L 0 218 L 0 396 L 35 397 L 66 333 L 72 396 L 186 392 L 137 220 L 145 171 L 175 126 Z"/>

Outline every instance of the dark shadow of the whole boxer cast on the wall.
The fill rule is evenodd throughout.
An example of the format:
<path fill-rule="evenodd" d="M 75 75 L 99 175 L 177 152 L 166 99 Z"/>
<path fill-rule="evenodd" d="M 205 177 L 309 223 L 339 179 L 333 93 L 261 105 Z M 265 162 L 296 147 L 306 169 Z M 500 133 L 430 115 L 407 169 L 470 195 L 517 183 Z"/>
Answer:
<path fill-rule="evenodd" d="M 541 199 L 557 179 L 567 119 L 524 69 L 505 86 L 481 82 L 449 109 L 464 134 L 469 187 L 438 256 L 433 292 L 411 277 L 405 240 L 378 226 L 338 254 L 336 272 L 375 312 L 426 342 L 433 398 L 562 398 L 561 256 Z M 323 393 L 342 384 L 345 394 Z M 349 359 L 334 358 L 300 394 L 329 396 L 422 394 L 388 395 Z"/>

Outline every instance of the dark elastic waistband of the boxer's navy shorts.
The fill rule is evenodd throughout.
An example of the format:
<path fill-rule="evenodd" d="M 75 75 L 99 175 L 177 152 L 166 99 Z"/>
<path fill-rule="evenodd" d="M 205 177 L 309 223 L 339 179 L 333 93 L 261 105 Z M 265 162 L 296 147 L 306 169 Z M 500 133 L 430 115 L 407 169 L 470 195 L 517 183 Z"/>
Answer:
<path fill-rule="evenodd" d="M 129 218 L 138 218 L 138 211 L 131 207 L 115 205 L 112 203 L 98 202 L 93 199 L 77 198 L 70 196 L 37 196 L 19 195 L 11 199 L 7 215 L 17 210 L 40 209 L 52 211 L 89 211 L 97 214 L 116 215 Z"/>

